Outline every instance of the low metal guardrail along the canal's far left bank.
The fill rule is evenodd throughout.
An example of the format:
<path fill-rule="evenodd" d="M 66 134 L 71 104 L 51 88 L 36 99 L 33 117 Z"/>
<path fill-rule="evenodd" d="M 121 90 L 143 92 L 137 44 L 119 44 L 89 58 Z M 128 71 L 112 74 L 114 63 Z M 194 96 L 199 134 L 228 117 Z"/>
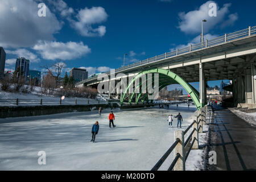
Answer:
<path fill-rule="evenodd" d="M 97 100 L 0 100 L 0 106 L 11 106 L 11 105 L 98 105 L 108 104 L 108 101 L 97 101 Z"/>

